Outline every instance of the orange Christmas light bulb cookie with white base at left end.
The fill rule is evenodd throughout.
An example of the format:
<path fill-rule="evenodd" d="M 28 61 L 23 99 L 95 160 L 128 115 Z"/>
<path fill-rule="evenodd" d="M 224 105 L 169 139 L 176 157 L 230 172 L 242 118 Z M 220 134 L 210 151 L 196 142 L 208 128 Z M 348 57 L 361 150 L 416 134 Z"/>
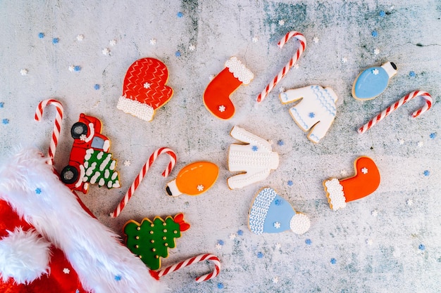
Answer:
<path fill-rule="evenodd" d="M 168 195 L 200 195 L 213 186 L 218 179 L 219 167 L 211 162 L 194 162 L 179 171 L 175 180 L 167 183 Z"/>

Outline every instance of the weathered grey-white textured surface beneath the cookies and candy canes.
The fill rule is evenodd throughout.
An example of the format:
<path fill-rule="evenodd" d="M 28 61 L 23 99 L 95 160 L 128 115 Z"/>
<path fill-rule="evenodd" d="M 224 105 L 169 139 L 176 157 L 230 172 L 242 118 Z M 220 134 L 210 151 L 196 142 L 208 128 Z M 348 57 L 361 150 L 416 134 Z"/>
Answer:
<path fill-rule="evenodd" d="M 129 219 L 182 211 L 192 228 L 163 265 L 204 252 L 223 262 L 221 275 L 209 282 L 193 280 L 211 269 L 206 263 L 164 277 L 172 292 L 440 292 L 439 103 L 411 119 L 410 113 L 423 105 L 416 98 L 368 133 L 356 133 L 415 89 L 432 93 L 439 102 L 440 17 L 437 0 L 0 1 L 1 157 L 16 145 L 48 148 L 55 112 L 46 108 L 43 122 L 35 122 L 40 100 L 58 98 L 66 111 L 58 170 L 68 162 L 70 126 L 80 113 L 99 117 L 103 134 L 111 138 L 123 187 L 92 185 L 89 194 L 81 195 L 85 204 L 118 233 Z M 307 40 L 299 67 L 256 105 L 257 94 L 292 56 L 294 41 L 282 49 L 276 46 L 290 30 Z M 78 34 L 84 35 L 82 41 Z M 108 56 L 102 53 L 105 48 Z M 206 110 L 201 97 L 210 76 L 230 56 L 242 60 L 255 78 L 232 95 L 235 117 L 221 121 Z M 166 63 L 168 85 L 175 91 L 152 122 L 116 109 L 128 66 L 143 57 Z M 386 61 L 398 66 L 387 91 L 365 102 L 352 98 L 359 72 Z M 80 71 L 70 72 L 70 65 Z M 20 74 L 22 69 L 26 75 Z M 94 89 L 95 84 L 100 88 Z M 278 100 L 281 86 L 309 84 L 330 86 L 339 96 L 335 123 L 318 145 L 294 124 L 290 105 Z M 277 171 L 242 190 L 226 185 L 231 176 L 228 146 L 237 143 L 229 136 L 234 125 L 273 141 L 280 154 Z M 160 174 L 167 159 L 161 157 L 118 219 L 109 219 L 108 212 L 161 146 L 178 154 L 171 178 L 186 164 L 206 159 L 221 168 L 216 185 L 199 197 L 166 196 L 168 178 Z M 380 187 L 370 197 L 331 211 L 322 181 L 350 176 L 360 155 L 378 164 Z M 123 164 L 126 160 L 130 166 Z M 302 236 L 251 234 L 249 205 L 264 186 L 308 214 L 311 230 Z"/>

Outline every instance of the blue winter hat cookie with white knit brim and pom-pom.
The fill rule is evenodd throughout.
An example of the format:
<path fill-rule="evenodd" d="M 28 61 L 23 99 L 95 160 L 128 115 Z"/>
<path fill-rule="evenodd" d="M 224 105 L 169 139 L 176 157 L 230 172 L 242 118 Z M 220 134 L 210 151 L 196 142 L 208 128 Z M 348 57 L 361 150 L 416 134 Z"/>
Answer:
<path fill-rule="evenodd" d="M 258 235 L 292 230 L 303 234 L 311 222 L 305 214 L 295 211 L 273 188 L 263 188 L 254 198 L 249 210 L 249 230 Z"/>

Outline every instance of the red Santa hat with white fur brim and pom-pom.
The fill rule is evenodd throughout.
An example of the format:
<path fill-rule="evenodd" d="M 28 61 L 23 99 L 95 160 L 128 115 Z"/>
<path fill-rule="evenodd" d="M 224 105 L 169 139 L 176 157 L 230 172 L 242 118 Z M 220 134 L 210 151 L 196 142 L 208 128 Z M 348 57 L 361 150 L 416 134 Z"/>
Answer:
<path fill-rule="evenodd" d="M 28 148 L 0 167 L 0 292 L 164 292 L 46 162 Z"/>

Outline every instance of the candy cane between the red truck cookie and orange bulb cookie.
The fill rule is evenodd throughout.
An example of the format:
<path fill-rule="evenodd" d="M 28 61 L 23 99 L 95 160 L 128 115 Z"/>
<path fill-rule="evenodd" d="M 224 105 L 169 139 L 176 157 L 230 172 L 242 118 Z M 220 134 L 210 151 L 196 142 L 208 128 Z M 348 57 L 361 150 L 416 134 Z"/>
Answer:
<path fill-rule="evenodd" d="M 118 204 L 118 207 L 115 208 L 115 210 L 110 214 L 112 218 L 116 218 L 119 216 L 121 211 L 124 209 L 125 204 L 128 203 L 130 200 L 130 197 L 132 197 L 133 193 L 135 193 L 135 190 L 138 188 L 139 183 L 141 183 L 142 178 L 144 178 L 147 171 L 149 171 L 149 168 L 151 167 L 151 164 L 156 161 L 156 158 L 166 153 L 170 157 L 170 163 L 168 163 L 167 169 L 165 169 L 162 173 L 162 176 L 167 177 L 168 174 L 170 174 L 170 171 L 175 167 L 176 164 L 176 154 L 173 152 L 173 150 L 170 150 L 170 148 L 159 148 L 155 150 L 149 157 L 149 161 L 147 161 L 144 166 L 142 167 L 141 171 L 139 171 L 139 174 L 135 181 L 133 181 L 132 186 L 130 186 L 130 189 L 127 193 L 125 193 L 123 200 Z"/>

